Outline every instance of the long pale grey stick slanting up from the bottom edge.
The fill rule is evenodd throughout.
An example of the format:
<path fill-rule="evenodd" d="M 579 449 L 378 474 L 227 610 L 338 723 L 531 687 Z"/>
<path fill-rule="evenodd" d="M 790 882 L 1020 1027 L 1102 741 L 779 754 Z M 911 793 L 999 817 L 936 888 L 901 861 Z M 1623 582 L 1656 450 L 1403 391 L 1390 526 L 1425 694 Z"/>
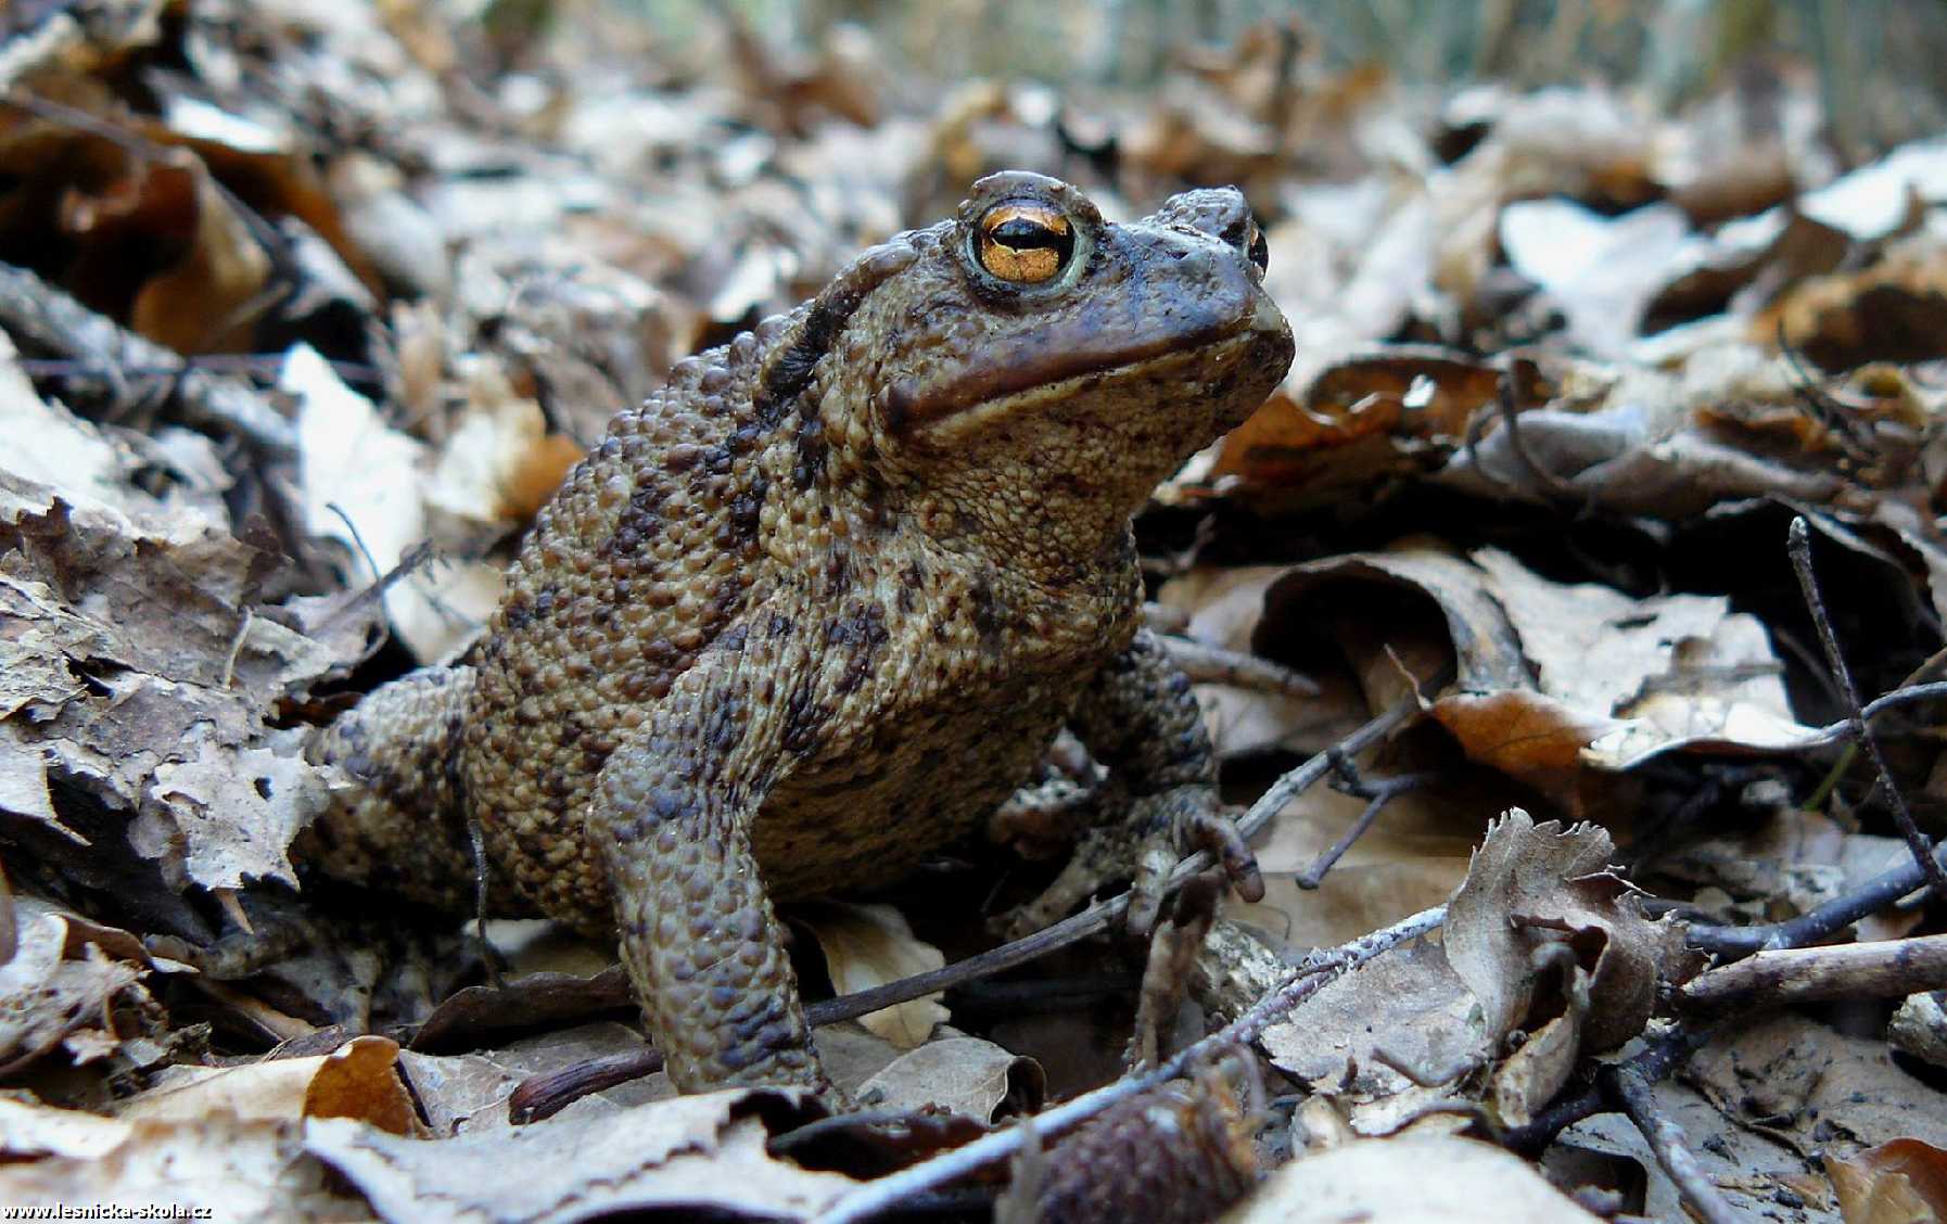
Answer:
<path fill-rule="evenodd" d="M 1410 918 L 1394 922 L 1392 926 L 1361 936 L 1351 944 L 1304 957 L 1304 963 L 1291 977 L 1291 981 L 1260 998 L 1248 1012 L 1209 1037 L 1184 1047 L 1182 1053 L 1147 1076 L 1116 1080 L 1114 1084 L 1096 1088 L 1094 1092 L 1079 1096 L 1065 1105 L 1055 1105 L 1053 1109 L 1034 1115 L 1036 1136 L 1047 1138 L 1059 1134 L 1069 1127 L 1102 1113 L 1116 1101 L 1131 1098 L 1139 1092 L 1149 1092 L 1166 1080 L 1174 1080 L 1184 1074 L 1188 1066 L 1219 1049 L 1256 1041 L 1258 1035 L 1279 1016 L 1322 990 L 1328 983 L 1351 969 L 1357 969 L 1388 948 L 1396 948 L 1406 940 L 1427 934 L 1443 920 L 1447 920 L 1447 907 L 1435 905 L 1433 909 L 1423 909 Z M 995 1131 L 993 1134 L 975 1138 L 964 1148 L 954 1148 L 952 1152 L 944 1152 L 933 1160 L 923 1160 L 907 1170 L 892 1173 L 890 1177 L 880 1177 L 878 1181 L 863 1185 L 861 1189 L 839 1199 L 837 1205 L 816 1216 L 814 1224 L 853 1224 L 855 1220 L 866 1220 L 884 1210 L 892 1210 L 913 1195 L 966 1177 L 968 1173 L 979 1171 L 997 1160 L 1007 1160 L 1020 1150 L 1022 1134 L 1022 1127 Z"/>

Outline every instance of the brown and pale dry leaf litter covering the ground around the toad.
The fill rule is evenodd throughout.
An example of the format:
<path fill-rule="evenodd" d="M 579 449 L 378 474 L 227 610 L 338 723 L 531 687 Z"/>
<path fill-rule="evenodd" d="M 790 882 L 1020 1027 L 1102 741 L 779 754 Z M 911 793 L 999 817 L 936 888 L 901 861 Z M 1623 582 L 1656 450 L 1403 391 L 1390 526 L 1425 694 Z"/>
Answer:
<path fill-rule="evenodd" d="M 0 21 L 0 1195 L 853 1218 L 1003 1127 L 1014 1187 L 962 1181 L 1003 1218 L 1943 1210 L 1947 981 L 1708 1018 L 1678 987 L 1737 926 L 1941 930 L 1887 788 L 1947 833 L 1947 144 L 1826 140 L 1785 62 L 1680 103 L 1433 90 L 1266 23 L 1145 90 L 935 84 L 861 27 L 789 47 L 724 18 L 680 51 L 602 6 L 456 12 Z M 907 1117 L 892 1142 L 658 1078 L 514 1125 L 539 1084 L 641 1062 L 607 950 L 306 880 L 331 786 L 306 728 L 463 650 L 555 481 L 676 360 L 1001 167 L 1110 214 L 1238 183 L 1301 339 L 1139 522 L 1186 658 L 1318 689 L 1199 667 L 1227 788 L 1328 753 L 1264 813 L 1267 895 L 1223 905 L 1162 1051 L 1306 954 L 1445 905 L 1439 930 L 1073 1133 L 1022 1121 L 1049 1084 L 1137 1086 L 1141 957 L 1114 944 L 822 1029 Z M 1822 617 L 1861 699 L 1896 695 L 1887 778 L 1848 747 Z M 1051 761 L 1046 790 L 1092 778 Z M 1014 841 L 1063 841 L 1030 815 Z M 989 948 L 1044 870 L 937 868 L 794 915 L 829 992 Z"/>

